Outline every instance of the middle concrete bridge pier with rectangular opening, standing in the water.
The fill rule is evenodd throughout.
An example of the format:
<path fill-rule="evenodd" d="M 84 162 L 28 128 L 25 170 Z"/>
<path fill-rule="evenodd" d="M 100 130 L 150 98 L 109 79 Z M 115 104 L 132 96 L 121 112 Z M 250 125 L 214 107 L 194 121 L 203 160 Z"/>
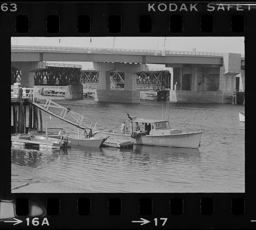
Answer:
<path fill-rule="evenodd" d="M 146 64 L 93 62 L 93 68 L 99 71 L 99 86 L 95 91 L 95 101 L 140 103 L 140 91 L 137 91 L 137 79 L 134 73 L 146 71 Z M 124 90 L 110 90 L 109 72 L 114 70 L 124 72 Z"/>

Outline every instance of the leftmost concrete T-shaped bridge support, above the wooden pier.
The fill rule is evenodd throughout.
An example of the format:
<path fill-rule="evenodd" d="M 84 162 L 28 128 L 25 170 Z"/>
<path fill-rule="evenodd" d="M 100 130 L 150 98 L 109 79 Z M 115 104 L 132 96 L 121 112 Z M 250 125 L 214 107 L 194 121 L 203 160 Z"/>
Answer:
<path fill-rule="evenodd" d="M 21 84 L 23 88 L 34 87 L 34 72 L 45 69 L 45 62 L 42 61 L 13 61 L 12 67 L 21 70 Z"/>

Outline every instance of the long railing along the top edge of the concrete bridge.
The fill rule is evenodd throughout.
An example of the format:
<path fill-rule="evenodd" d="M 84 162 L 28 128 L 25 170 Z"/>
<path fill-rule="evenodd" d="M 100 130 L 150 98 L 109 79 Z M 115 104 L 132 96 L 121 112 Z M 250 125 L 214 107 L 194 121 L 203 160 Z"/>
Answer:
<path fill-rule="evenodd" d="M 144 49 L 115 49 L 115 48 L 90 48 L 90 47 L 71 47 L 71 46 L 42 46 L 42 45 L 12 45 L 12 50 L 35 50 L 35 51 L 71 51 L 71 52 L 114 52 L 114 53 L 138 53 L 152 55 L 203 55 L 203 56 L 223 56 L 218 52 L 199 52 L 199 51 L 173 51 L 173 50 L 144 50 Z M 244 57 L 244 54 L 241 54 Z"/>

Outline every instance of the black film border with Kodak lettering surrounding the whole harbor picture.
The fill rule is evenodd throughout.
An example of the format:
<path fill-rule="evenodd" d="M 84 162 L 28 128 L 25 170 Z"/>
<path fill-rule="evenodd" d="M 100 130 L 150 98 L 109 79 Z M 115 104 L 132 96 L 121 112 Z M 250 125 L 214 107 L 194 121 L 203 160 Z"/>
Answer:
<path fill-rule="evenodd" d="M 253 13 L 255 6 L 253 4 L 251 4 L 250 10 L 248 4 L 240 7 L 237 3 L 239 10 L 236 7 L 228 10 L 228 5 L 223 4 L 223 7 L 219 5 L 219 10 L 219 6 L 214 5 L 213 11 L 207 11 L 210 9 L 207 7 L 208 3 L 198 3 L 197 11 L 193 8 L 190 11 L 191 3 L 185 3 L 188 10 L 186 11 L 185 9 L 180 10 L 182 3 L 176 3 L 177 10 L 170 11 L 168 10 L 169 3 L 165 3 L 166 10 L 161 11 L 165 8 L 164 5 L 161 5 L 159 7 L 161 10 L 159 10 L 159 3 L 155 3 L 155 11 L 152 8 L 148 11 L 148 4 L 152 6 L 153 2 L 14 3 L 17 6 L 17 11 L 12 12 L 10 10 L 15 9 L 12 8 L 14 5 L 6 4 L 4 6 L 7 6 L 8 10 L 1 9 L 0 25 L 1 50 L 6 54 L 7 62 L 11 55 L 10 47 L 6 46 L 10 43 L 10 36 L 245 36 L 245 53 L 248 57 L 246 59 L 246 74 L 253 74 L 252 67 L 255 65 L 252 59 L 253 50 L 255 50 L 253 39 L 255 35 L 255 13 Z M 173 6 L 175 7 L 175 5 Z M 241 9 L 243 11 L 240 11 Z M 85 24 L 81 24 L 81 22 L 85 22 Z M 3 62 L 1 65 L 4 66 L 7 62 Z M 7 63 L 8 65 L 10 63 Z M 2 74 L 9 75 L 9 69 L 2 68 Z M 247 84 L 247 89 L 253 86 L 253 79 L 249 80 L 252 84 Z M 1 90 L 5 92 L 4 84 L 1 86 Z M 9 93 L 8 90 L 6 90 L 7 93 Z M 253 90 L 248 90 L 249 104 L 250 97 L 253 97 L 252 94 Z M 6 99 L 6 104 L 8 105 L 8 99 Z M 253 113 L 249 108 L 247 113 L 249 121 L 250 115 Z M 6 122 L 6 130 L 9 129 L 7 124 L 9 123 Z M 246 130 L 249 131 L 252 128 L 253 126 L 251 128 L 247 126 Z M 1 135 L 1 137 L 3 143 L 9 143 L 8 135 Z M 248 142 L 253 141 L 248 136 L 247 140 L 247 145 Z M 9 145 L 3 144 L 2 148 L 3 152 L 10 152 Z M 255 227 L 254 207 L 256 202 L 253 189 L 255 167 L 252 165 L 255 159 L 247 154 L 245 161 L 245 194 L 11 194 L 9 175 L 4 178 L 6 186 L 1 188 L 0 198 L 13 200 L 16 206 L 16 218 L 19 217 L 18 219 L 23 220 L 23 223 L 15 225 L 15 227 L 27 227 L 27 218 L 30 218 L 29 226 L 35 226 L 32 224 L 35 217 L 31 217 L 32 204 L 42 207 L 45 211 L 43 217 L 38 217 L 39 224 L 35 226 L 38 228 L 47 226 L 47 224 L 42 226 L 44 218 L 48 218 L 51 228 Z M 1 164 L 5 163 L 6 167 L 0 167 L 2 175 L 5 175 L 6 171 L 11 171 L 10 157 L 4 158 Z M 173 202 L 176 202 L 174 209 Z M 202 206 L 205 207 L 204 205 L 206 208 L 202 209 Z M 214 208 L 212 209 L 212 207 Z M 150 210 L 151 215 L 149 214 Z M 181 215 L 173 215 L 173 210 Z M 212 215 L 204 215 L 201 213 L 202 211 Z M 145 212 L 147 215 L 144 215 Z M 146 224 L 138 222 L 142 221 L 141 218 L 150 222 Z M 155 220 L 156 218 L 157 220 Z M 167 218 L 164 226 L 164 219 L 161 218 Z M 37 224 L 35 220 L 34 223 Z M 10 223 L 10 226 L 6 224 L 4 226 L 13 227 L 13 223 Z"/>

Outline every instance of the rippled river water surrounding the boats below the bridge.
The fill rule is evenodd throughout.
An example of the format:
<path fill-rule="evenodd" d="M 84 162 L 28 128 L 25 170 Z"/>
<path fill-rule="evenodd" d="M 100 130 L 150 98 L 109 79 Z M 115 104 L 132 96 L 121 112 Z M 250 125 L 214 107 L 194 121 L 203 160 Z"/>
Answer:
<path fill-rule="evenodd" d="M 121 123 L 127 121 L 127 113 L 137 118 L 162 119 L 162 102 L 157 101 L 141 101 L 139 105 L 99 103 L 93 99 L 54 101 L 97 120 L 98 130 L 119 131 Z M 170 103 L 169 109 L 171 128 L 203 132 L 198 149 L 73 146 L 51 152 L 12 148 L 12 163 L 92 193 L 244 192 L 244 123 L 238 118 L 244 106 Z M 163 110 L 165 118 L 164 102 Z M 46 127 L 49 115 L 43 112 L 42 116 Z M 49 127 L 77 132 L 75 126 L 55 117 Z"/>

